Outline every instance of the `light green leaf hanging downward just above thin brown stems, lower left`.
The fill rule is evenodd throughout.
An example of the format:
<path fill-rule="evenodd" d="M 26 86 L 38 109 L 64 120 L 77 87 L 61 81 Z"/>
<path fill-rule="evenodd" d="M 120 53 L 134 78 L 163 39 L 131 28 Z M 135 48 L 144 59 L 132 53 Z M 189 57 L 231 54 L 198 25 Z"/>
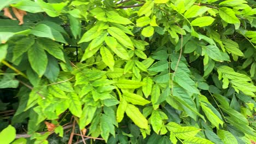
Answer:
<path fill-rule="evenodd" d="M 77 94 L 68 93 L 67 97 L 69 98 L 69 107 L 68 109 L 71 113 L 77 117 L 82 116 L 82 104 Z"/>

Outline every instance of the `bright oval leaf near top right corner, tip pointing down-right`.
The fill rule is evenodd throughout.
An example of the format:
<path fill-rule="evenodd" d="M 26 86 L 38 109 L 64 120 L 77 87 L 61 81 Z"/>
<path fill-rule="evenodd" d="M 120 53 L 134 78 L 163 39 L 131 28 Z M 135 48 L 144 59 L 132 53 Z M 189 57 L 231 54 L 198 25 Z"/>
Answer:
<path fill-rule="evenodd" d="M 219 16 L 228 23 L 240 23 L 240 21 L 237 19 L 235 12 L 226 7 L 219 8 Z"/>

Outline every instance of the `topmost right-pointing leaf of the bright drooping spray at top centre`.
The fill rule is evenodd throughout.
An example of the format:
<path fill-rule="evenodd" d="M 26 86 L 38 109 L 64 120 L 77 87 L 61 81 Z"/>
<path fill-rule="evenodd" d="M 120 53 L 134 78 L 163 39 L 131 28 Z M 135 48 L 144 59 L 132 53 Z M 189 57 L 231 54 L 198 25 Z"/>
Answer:
<path fill-rule="evenodd" d="M 127 25 L 127 24 L 132 23 L 129 19 L 127 19 L 123 16 L 120 16 L 115 11 L 109 11 L 108 10 L 106 15 L 107 15 L 107 21 L 109 21 L 109 22 L 120 23 L 120 24 L 123 24 L 123 25 Z"/>

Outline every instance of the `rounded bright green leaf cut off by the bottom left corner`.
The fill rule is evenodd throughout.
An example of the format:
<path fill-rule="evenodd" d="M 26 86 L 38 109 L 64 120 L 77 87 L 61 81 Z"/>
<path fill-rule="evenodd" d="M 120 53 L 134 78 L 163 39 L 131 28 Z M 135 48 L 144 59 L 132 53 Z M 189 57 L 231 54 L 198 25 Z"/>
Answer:
<path fill-rule="evenodd" d="M 3 129 L 0 133 L 0 141 L 3 144 L 11 143 L 16 136 L 16 130 L 13 126 L 8 125 L 7 128 Z"/>

